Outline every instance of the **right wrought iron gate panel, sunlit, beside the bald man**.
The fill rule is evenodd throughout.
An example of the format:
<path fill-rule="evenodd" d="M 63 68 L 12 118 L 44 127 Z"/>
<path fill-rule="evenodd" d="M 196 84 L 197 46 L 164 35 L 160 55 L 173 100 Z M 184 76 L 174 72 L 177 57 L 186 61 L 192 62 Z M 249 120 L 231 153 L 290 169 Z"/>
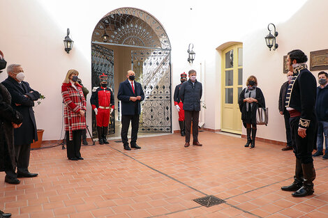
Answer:
<path fill-rule="evenodd" d="M 170 51 L 135 50 L 131 56 L 136 80 L 144 90 L 139 131 L 171 132 Z"/>

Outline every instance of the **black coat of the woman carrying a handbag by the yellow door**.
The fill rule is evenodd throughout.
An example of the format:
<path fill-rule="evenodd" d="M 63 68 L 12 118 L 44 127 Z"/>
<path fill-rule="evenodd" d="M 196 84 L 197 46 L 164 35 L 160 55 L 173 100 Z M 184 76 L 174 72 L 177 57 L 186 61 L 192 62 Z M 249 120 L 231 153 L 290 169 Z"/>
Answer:
<path fill-rule="evenodd" d="M 239 100 L 238 100 L 238 104 L 239 104 L 239 110 L 241 111 L 241 120 L 243 121 L 243 125 L 246 128 L 246 102 L 244 102 L 245 99 L 245 92 L 247 91 L 247 88 L 244 88 L 243 91 L 241 91 L 240 95 L 239 95 Z M 258 109 L 258 107 L 265 107 L 265 100 L 264 100 L 264 95 L 261 91 L 260 88 L 256 87 L 256 96 L 255 99 L 258 100 L 258 103 L 253 103 L 252 105 L 252 116 L 251 116 L 251 120 L 252 123 L 256 124 L 256 109 Z M 246 97 L 247 98 L 247 97 Z"/>

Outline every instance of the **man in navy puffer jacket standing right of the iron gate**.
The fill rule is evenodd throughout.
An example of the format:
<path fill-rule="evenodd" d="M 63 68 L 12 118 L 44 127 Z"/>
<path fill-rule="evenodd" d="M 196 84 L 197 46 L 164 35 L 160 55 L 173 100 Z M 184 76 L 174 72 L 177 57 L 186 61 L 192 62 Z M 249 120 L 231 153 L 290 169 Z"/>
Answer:
<path fill-rule="evenodd" d="M 198 120 L 200 118 L 200 99 L 202 98 L 202 84 L 196 79 L 196 71 L 189 70 L 189 80 L 181 84 L 179 98 L 184 104 L 184 116 L 186 120 L 186 143 L 190 146 L 191 120 L 193 120 L 193 145 L 202 146 L 198 141 Z"/>

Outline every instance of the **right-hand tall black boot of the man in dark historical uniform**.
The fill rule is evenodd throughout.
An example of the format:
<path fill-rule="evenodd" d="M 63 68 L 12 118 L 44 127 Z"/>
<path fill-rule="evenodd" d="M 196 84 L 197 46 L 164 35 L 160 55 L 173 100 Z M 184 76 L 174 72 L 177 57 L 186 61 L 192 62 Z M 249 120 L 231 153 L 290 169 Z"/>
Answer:
<path fill-rule="evenodd" d="M 293 197 L 304 197 L 313 194 L 313 180 L 315 180 L 315 169 L 313 162 L 301 164 L 303 169 L 304 182 L 303 186 L 292 194 Z"/>

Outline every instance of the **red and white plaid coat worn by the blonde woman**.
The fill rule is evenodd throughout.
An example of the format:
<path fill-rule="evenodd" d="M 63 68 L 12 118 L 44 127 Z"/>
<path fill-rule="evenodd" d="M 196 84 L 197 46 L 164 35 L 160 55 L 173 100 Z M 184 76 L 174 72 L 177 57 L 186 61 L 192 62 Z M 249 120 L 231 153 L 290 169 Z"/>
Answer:
<path fill-rule="evenodd" d="M 87 110 L 87 101 L 84 98 L 82 86 L 75 83 L 77 90 L 72 84 L 64 83 L 61 86 L 61 95 L 64 100 L 64 123 L 65 131 L 69 132 L 70 141 L 73 140 L 72 131 L 87 128 L 85 116 L 80 116 L 80 110 Z"/>

